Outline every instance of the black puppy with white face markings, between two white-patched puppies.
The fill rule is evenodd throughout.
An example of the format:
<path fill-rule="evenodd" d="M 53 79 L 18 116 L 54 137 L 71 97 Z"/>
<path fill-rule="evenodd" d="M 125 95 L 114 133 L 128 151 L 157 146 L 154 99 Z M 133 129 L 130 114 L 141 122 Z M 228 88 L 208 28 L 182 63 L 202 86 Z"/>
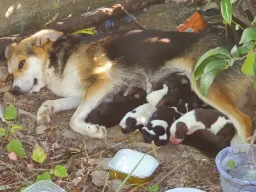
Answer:
<path fill-rule="evenodd" d="M 182 100 L 173 107 L 161 106 L 161 108 L 157 108 L 147 126 L 141 129 L 145 142 L 151 143 L 154 140 L 157 146 L 169 143 L 170 132 L 168 129 L 170 125 L 189 110 L 191 110 L 191 107 Z"/>

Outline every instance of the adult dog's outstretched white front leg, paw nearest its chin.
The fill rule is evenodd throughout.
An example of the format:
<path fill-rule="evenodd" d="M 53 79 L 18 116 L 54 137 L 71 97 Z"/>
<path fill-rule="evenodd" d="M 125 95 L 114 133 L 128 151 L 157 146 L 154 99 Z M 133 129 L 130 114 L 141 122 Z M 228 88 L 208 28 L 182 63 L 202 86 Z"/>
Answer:
<path fill-rule="evenodd" d="M 77 108 L 81 102 L 81 97 L 67 97 L 56 100 L 45 101 L 37 111 L 37 124 L 44 124 L 51 121 L 51 114 L 58 111 L 65 111 Z"/>

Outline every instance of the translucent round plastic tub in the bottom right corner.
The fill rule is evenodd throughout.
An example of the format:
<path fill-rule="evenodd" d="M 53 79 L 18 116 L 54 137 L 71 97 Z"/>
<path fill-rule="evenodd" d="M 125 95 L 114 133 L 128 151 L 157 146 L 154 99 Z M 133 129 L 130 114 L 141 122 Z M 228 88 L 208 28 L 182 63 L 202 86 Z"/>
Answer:
<path fill-rule="evenodd" d="M 253 145 L 256 154 L 256 145 Z M 256 158 L 256 157 L 255 157 Z M 234 168 L 228 168 L 227 163 L 232 161 Z M 215 159 L 220 172 L 221 189 L 223 192 L 254 192 L 256 191 L 256 168 L 253 164 L 250 144 L 226 147 L 219 152 Z M 252 172 L 254 172 L 252 174 Z M 243 179 L 255 177 L 253 180 Z M 246 176 L 247 175 L 247 176 Z M 250 186 L 251 185 L 251 186 Z"/>

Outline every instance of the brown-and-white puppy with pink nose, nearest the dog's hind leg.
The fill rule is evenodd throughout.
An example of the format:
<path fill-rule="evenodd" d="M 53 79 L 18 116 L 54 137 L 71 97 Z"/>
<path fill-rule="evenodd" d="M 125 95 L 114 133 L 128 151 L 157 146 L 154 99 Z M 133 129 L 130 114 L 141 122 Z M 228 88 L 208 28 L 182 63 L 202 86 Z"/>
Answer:
<path fill-rule="evenodd" d="M 223 136 L 228 140 L 227 143 L 231 142 L 235 134 L 235 131 L 232 131 L 235 129 L 234 125 L 223 113 L 215 109 L 198 108 L 173 122 L 170 127 L 170 141 L 177 145 L 186 135 L 193 134 L 199 129 L 210 131 L 216 136 Z"/>

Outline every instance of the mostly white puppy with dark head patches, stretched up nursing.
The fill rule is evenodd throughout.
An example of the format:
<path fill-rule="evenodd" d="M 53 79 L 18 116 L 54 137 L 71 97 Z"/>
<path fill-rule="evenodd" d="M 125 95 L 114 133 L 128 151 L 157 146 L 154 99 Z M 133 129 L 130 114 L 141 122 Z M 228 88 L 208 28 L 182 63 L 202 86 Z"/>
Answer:
<path fill-rule="evenodd" d="M 133 109 L 122 118 L 119 124 L 121 131 L 123 133 L 133 132 L 136 129 L 141 129 L 143 126 L 147 125 L 148 120 L 156 111 L 156 104 L 167 92 L 168 87 L 166 84 L 163 84 L 161 90 L 149 93 L 146 97 L 148 103 L 138 106 L 138 108 Z"/>

